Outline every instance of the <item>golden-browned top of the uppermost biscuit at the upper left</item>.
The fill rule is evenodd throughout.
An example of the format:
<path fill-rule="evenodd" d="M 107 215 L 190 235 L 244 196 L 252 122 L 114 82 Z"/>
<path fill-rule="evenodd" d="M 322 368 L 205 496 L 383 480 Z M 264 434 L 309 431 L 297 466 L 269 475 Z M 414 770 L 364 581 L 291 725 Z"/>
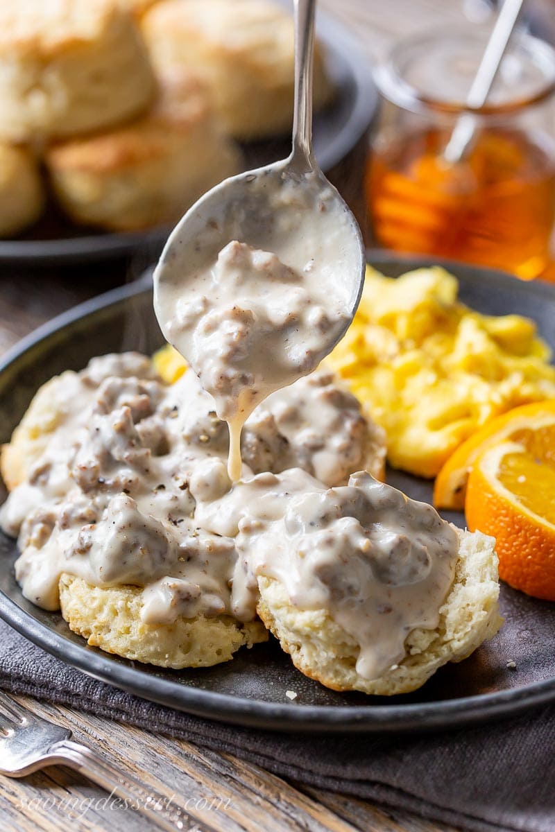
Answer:
<path fill-rule="evenodd" d="M 2 0 L 0 55 L 52 57 L 94 42 L 127 15 L 113 0 Z"/>

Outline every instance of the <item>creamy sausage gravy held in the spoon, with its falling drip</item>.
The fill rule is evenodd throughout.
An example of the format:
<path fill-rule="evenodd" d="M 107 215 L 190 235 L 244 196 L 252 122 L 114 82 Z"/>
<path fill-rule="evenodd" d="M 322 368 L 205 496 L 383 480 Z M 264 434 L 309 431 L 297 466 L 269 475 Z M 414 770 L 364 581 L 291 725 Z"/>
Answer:
<path fill-rule="evenodd" d="M 251 188 L 265 192 L 266 209 L 256 226 L 271 251 L 259 240 L 235 239 L 233 216 L 214 218 L 199 234 L 185 270 L 168 255 L 160 276 L 155 273 L 161 330 L 229 425 L 234 481 L 241 474 L 246 418 L 270 393 L 314 370 L 352 317 L 348 281 L 330 269 L 330 250 L 337 262 L 350 234 L 347 216 L 330 210 L 326 191 L 305 191 L 270 176 L 255 177 Z"/>

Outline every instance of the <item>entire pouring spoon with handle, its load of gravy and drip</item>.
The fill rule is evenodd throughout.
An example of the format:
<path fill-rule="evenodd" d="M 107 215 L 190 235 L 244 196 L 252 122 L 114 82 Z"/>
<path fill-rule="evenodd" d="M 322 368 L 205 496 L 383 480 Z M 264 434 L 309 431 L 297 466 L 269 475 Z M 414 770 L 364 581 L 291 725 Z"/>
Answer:
<path fill-rule="evenodd" d="M 228 423 L 231 482 L 245 420 L 331 352 L 364 284 L 359 227 L 312 151 L 315 2 L 295 0 L 291 155 L 201 197 L 154 272 L 161 330 Z"/>

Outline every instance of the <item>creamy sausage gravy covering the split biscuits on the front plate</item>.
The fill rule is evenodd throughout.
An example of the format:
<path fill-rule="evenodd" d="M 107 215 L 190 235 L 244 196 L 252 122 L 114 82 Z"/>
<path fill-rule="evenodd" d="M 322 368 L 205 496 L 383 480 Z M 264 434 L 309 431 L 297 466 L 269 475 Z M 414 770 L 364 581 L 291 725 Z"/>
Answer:
<path fill-rule="evenodd" d="M 146 622 L 245 622 L 258 578 L 271 577 L 295 607 L 323 607 L 344 626 L 367 678 L 402 658 L 414 627 L 437 626 L 456 532 L 369 474 L 349 478 L 371 430 L 331 374 L 300 379 L 252 414 L 239 483 L 225 466 L 225 425 L 191 372 L 166 387 L 148 359 L 108 355 L 63 374 L 50 396 L 57 425 L 0 510 L 18 535 L 17 581 L 38 606 L 58 608 L 69 572 L 141 587 Z"/>

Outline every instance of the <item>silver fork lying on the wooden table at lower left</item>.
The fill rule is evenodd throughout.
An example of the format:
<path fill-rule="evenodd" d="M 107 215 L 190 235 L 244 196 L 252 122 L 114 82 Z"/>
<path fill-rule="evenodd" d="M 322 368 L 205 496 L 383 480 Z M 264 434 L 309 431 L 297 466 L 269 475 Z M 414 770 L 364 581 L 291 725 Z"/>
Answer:
<path fill-rule="evenodd" d="M 71 736 L 68 728 L 42 719 L 0 691 L 0 774 L 24 777 L 47 765 L 68 765 L 126 800 L 163 830 L 214 832 L 181 806 L 172 805 L 166 795 L 142 785 Z"/>

